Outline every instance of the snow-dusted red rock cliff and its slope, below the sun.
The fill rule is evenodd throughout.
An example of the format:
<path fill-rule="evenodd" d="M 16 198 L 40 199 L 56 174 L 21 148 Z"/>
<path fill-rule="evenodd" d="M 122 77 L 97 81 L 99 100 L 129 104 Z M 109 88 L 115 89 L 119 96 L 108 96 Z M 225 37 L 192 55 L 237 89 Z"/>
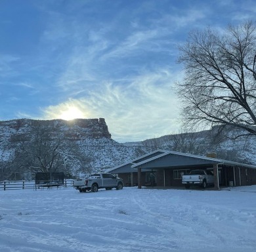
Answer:
<path fill-rule="evenodd" d="M 15 119 L 0 121 L 0 162 L 14 159 L 21 143 L 35 144 L 35 135 L 43 131 L 47 132 L 49 141 L 61 140 L 60 152 L 87 158 L 89 161 L 83 166 L 93 171 L 106 170 L 136 157 L 135 146 L 112 140 L 104 118 Z"/>

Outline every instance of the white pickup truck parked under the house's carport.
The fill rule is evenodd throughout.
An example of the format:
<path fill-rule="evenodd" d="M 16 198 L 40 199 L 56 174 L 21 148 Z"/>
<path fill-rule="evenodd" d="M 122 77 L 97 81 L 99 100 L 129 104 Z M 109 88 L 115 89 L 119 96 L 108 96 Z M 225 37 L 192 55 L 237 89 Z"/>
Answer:
<path fill-rule="evenodd" d="M 192 185 L 201 185 L 206 188 L 208 184 L 214 184 L 214 176 L 209 170 L 192 170 L 190 175 L 182 175 L 182 184 L 186 188 Z"/>

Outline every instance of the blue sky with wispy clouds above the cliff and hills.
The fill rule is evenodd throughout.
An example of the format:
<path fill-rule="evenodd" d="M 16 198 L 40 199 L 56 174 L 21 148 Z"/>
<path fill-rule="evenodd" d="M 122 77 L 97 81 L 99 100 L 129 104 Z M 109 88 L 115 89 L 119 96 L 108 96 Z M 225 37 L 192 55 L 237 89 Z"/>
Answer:
<path fill-rule="evenodd" d="M 1 0 L 0 120 L 104 117 L 117 142 L 177 133 L 177 45 L 255 16 L 250 0 Z"/>

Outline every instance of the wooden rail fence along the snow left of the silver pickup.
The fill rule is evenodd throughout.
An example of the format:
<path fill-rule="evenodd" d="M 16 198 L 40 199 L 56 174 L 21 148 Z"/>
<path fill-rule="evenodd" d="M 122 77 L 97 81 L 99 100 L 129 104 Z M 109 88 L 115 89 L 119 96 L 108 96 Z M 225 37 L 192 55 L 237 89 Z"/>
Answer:
<path fill-rule="evenodd" d="M 74 184 L 74 180 L 72 179 L 65 179 L 64 184 L 53 184 L 49 183 L 49 181 L 45 181 L 42 184 L 35 184 L 35 181 L 28 181 L 28 180 L 4 180 L 0 181 L 0 190 L 20 190 L 20 189 L 44 189 L 44 188 L 68 188 L 72 187 Z"/>

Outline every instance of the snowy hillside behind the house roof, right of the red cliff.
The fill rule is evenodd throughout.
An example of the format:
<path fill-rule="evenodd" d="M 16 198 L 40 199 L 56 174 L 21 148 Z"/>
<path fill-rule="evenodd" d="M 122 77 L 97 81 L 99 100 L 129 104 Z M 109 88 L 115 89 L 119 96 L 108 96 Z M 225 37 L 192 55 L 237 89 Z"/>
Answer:
<path fill-rule="evenodd" d="M 165 135 L 143 141 L 148 150 L 174 150 L 188 154 L 206 156 L 207 153 L 215 152 L 217 158 L 240 163 L 256 164 L 256 136 L 241 136 L 247 134 L 226 127 L 219 131 L 215 127 L 208 131 L 196 133 L 180 133 Z"/>

